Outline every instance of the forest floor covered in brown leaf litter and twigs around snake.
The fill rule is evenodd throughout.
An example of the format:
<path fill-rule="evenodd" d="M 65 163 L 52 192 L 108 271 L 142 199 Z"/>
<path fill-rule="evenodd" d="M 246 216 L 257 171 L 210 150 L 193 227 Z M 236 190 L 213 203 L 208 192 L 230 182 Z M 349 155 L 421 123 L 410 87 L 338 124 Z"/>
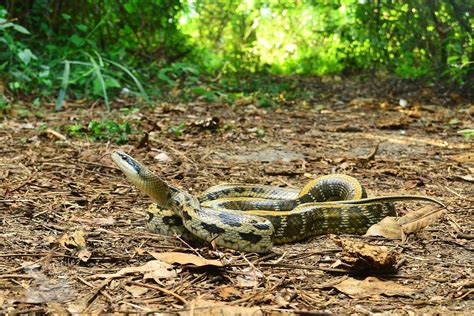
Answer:
<path fill-rule="evenodd" d="M 457 131 L 472 128 L 474 105 L 406 84 L 306 84 L 317 98 L 276 109 L 242 98 L 138 112 L 119 111 L 130 107 L 119 100 L 108 114 L 100 104 L 4 110 L 1 313 L 472 313 L 474 145 Z M 141 132 L 116 145 L 62 127 L 104 118 Z M 117 148 L 193 194 L 224 182 L 301 188 L 337 172 L 358 178 L 369 195 L 428 195 L 448 211 L 403 242 L 319 236 L 268 255 L 193 248 L 145 231 L 151 201 L 113 165 Z M 354 270 L 337 238 L 393 249 L 396 264 Z"/>

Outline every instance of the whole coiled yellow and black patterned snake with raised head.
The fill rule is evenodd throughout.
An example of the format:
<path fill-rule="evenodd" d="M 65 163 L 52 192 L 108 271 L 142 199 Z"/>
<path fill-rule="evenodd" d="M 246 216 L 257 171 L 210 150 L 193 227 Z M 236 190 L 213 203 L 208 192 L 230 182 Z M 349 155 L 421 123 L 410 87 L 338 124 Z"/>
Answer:
<path fill-rule="evenodd" d="M 224 184 L 194 197 L 121 151 L 111 157 L 129 181 L 157 203 L 148 211 L 149 231 L 198 237 L 241 251 L 265 253 L 273 244 L 329 233 L 364 234 L 382 218 L 396 215 L 394 201 L 444 206 L 426 196 L 367 197 L 359 181 L 342 174 L 319 177 L 301 190 Z"/>

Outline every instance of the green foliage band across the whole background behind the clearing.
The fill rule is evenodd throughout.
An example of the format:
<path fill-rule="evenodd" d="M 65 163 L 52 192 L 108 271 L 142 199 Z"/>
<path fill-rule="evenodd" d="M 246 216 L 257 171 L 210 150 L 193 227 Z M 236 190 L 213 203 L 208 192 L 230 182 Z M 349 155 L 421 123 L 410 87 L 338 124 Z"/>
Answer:
<path fill-rule="evenodd" d="M 247 80 L 249 72 L 384 69 L 468 87 L 469 10 L 462 0 L 7 0 L 0 79 L 17 95 L 57 96 L 57 110 L 66 98 L 84 97 L 110 108 L 122 92 L 145 101 L 172 92 L 185 101 L 229 102 L 250 93 L 264 107 L 282 91 L 284 99 L 301 96 L 225 82 Z"/>

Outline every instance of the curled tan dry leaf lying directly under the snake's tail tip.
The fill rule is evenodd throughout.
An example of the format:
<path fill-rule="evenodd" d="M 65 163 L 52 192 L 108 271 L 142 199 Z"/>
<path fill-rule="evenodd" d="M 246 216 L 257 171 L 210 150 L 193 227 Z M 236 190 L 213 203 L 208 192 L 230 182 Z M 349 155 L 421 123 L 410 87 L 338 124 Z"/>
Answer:
<path fill-rule="evenodd" d="M 407 213 L 400 218 L 386 217 L 372 225 L 365 236 L 382 236 L 391 239 L 403 239 L 406 234 L 423 230 L 436 222 L 444 214 L 437 206 L 426 206 L 417 211 Z"/>

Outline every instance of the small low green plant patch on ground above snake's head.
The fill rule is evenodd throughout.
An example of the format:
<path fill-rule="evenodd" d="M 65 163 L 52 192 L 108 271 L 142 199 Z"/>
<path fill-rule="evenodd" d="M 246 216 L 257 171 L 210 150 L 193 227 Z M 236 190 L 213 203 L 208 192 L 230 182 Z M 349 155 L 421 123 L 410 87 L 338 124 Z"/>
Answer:
<path fill-rule="evenodd" d="M 117 144 L 126 143 L 128 135 L 134 132 L 129 121 L 119 123 L 113 120 L 92 120 L 87 126 L 75 123 L 64 126 L 64 130 L 71 136 L 85 137 L 91 141 L 111 140 Z"/>

